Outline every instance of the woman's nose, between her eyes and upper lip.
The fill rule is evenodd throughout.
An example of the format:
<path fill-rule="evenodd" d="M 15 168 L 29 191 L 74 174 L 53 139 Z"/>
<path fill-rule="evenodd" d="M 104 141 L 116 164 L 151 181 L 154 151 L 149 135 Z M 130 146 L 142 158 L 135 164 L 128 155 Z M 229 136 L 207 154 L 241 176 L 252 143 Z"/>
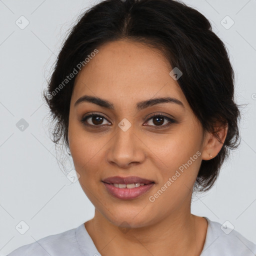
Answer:
<path fill-rule="evenodd" d="M 145 145 L 134 133 L 132 126 L 126 131 L 117 127 L 115 135 L 108 142 L 106 160 L 121 168 L 139 164 L 145 159 Z"/>

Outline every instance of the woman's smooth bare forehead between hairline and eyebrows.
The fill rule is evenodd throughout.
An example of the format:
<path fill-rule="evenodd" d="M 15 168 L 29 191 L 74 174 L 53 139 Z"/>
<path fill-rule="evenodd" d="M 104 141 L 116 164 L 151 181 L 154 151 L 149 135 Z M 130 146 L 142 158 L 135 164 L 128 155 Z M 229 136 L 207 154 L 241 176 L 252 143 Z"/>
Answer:
<path fill-rule="evenodd" d="M 119 40 L 100 46 L 98 53 L 75 78 L 73 100 L 83 94 L 104 95 L 116 104 L 128 104 L 159 96 L 186 99 L 172 67 L 159 49 L 144 43 Z"/>

